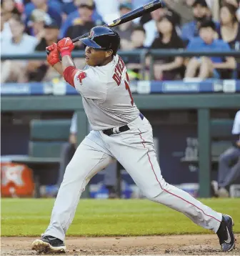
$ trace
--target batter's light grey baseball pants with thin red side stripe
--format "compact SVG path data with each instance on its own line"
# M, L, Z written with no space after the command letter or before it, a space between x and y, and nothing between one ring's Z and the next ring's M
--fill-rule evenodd
M149 200L184 213L197 225L217 232L222 215L187 192L165 182L157 162L152 128L144 117L128 124L129 130L108 136L91 131L66 167L45 235L64 240L74 219L81 192L97 172L117 159Z

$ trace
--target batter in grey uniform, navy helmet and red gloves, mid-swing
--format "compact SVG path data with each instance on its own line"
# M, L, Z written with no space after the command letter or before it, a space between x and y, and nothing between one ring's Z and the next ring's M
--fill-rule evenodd
M91 177L114 159L129 172L149 200L182 212L197 225L216 232L221 249L233 250L232 218L203 205L161 176L151 124L134 104L126 66L117 54L119 34L106 26L96 26L81 42L86 46L83 70L77 69L71 58L74 44L70 38L49 46L47 60L81 94L93 130L66 167L49 227L41 239L32 243L32 250L66 251L65 234L74 219L81 192Z

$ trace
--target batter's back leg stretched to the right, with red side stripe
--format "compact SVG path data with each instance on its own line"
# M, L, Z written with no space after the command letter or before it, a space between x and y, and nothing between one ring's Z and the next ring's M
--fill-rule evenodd
M151 125L146 119L143 122L135 122L133 129L127 132L122 132L115 137L106 137L106 142L110 144L114 157L129 172L149 200L182 212L197 225L214 232L218 232L220 225L226 227L226 222L229 222L229 228L231 228L232 220L228 217L222 224L221 213L202 204L187 192L165 182L156 159ZM227 235L226 232L223 233ZM234 243L231 243L229 249L232 249L232 246Z

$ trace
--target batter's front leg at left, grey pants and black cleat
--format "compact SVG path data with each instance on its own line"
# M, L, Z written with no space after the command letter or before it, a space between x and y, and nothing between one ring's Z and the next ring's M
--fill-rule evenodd
M38 252L64 252L64 237L74 219L81 193L91 177L104 169L114 158L110 156L99 132L91 132L76 149L66 167L63 182L54 203L49 227L41 240L35 240L32 249Z

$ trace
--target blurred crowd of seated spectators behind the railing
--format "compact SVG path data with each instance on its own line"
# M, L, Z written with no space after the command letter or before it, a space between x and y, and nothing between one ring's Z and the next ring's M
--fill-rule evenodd
M149 0L1 0L1 54L31 54L64 36L74 38L110 23ZM166 7L116 26L121 50L240 50L240 0L165 0ZM79 42L76 50L84 50ZM78 66L83 59L75 59ZM125 57L132 79L142 79L139 56ZM146 74L150 67L146 58ZM51 81L44 60L1 61L1 82ZM147 77L147 76L146 76ZM234 57L154 56L156 80L240 78Z

